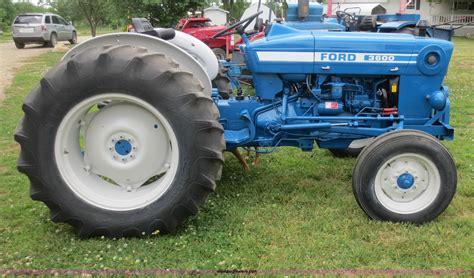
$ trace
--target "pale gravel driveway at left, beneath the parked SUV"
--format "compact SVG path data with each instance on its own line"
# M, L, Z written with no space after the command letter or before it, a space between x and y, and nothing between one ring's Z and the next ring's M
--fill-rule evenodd
M83 42L88 38L79 37L78 41ZM63 42L58 45L60 47ZM17 49L13 42L0 43L0 101L5 98L5 89L10 85L16 70L29 63L32 58L51 50L52 48L36 44L27 45L25 49Z

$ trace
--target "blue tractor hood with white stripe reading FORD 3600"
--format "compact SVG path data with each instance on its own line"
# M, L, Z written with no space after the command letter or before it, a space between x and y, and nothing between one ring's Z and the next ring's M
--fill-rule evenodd
M273 24L264 39L243 50L255 73L444 75L453 45L407 34L302 31Z

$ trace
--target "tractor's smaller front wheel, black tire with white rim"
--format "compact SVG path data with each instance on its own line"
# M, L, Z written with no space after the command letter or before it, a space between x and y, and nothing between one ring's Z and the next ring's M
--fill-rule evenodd
M370 218L424 223L451 202L457 174L448 150L429 134L403 130L377 137L359 155L352 187Z

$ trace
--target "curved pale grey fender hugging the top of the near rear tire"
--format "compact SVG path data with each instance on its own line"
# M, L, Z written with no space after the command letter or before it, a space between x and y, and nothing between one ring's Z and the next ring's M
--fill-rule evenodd
M174 60L176 60L176 62L178 62L179 67L182 70L193 73L194 76L196 76L197 79L201 81L204 87L204 91L207 93L207 95L211 95L211 79L204 66L200 64L198 60L193 58L193 56L186 53L185 50L179 48L178 46L165 40L148 35L141 35L137 33L113 33L100 37L95 37L83 43L80 43L73 49L69 50L63 56L62 60L69 60L74 55L89 48L101 47L108 44L113 46L131 45L137 47L145 47L149 51L161 53L166 55L167 57L172 57ZM214 59L216 60L217 64L217 59L215 58L215 56Z

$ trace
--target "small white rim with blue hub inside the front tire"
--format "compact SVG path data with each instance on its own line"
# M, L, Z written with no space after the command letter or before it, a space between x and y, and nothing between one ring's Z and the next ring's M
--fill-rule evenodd
M441 188L436 165L415 153L388 159L377 170L375 195L388 210L399 214L422 211L434 202Z

